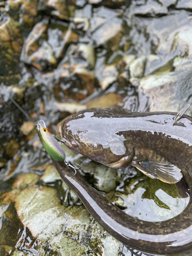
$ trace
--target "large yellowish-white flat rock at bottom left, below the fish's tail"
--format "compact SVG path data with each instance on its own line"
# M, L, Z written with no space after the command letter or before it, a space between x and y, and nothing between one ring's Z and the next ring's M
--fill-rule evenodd
M67 207L62 205L56 189L36 185L36 176L38 175L21 175L15 181L14 189L4 195L4 204L6 204L6 200L15 202L16 216L19 217L19 224L23 225L21 229L24 229L23 233L22 230L19 233L17 248L24 250L27 246L28 250L33 249L41 255L45 251L46 244L50 247L49 252L52 254L66 255L67 251L70 255L80 256L84 251L92 248L92 243L94 243L93 248L100 246L103 229L95 221L91 221L84 206ZM8 221L12 216L7 211L6 214ZM15 221L17 218L13 217L12 219ZM17 224L16 234L18 227ZM10 227L4 223L4 231L8 232L6 228L10 230ZM12 231L12 239L15 239L14 232ZM29 240L26 240L26 236ZM35 248L34 242L36 243ZM87 248L88 244L90 244L89 249ZM75 254L74 248L77 248ZM9 248L9 251L10 249L12 247ZM18 255L17 250L14 253Z

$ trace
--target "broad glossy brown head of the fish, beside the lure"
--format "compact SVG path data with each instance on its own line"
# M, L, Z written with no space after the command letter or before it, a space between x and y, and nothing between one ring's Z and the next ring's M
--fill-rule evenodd
M112 133L108 114L109 110L89 109L68 116L57 125L57 137L94 161L115 162L124 155L125 148L123 139Z

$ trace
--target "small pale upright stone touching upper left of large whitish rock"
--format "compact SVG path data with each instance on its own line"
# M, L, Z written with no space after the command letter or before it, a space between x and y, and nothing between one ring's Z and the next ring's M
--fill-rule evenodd
M141 56L133 60L130 64L131 77L141 78L145 70L146 56Z

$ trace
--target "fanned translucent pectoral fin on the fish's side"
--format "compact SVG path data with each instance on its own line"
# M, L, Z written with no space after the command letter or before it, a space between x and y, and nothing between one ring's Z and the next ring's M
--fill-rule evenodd
M172 163L135 162L132 165L152 179L159 179L166 183L177 183L183 177L181 169Z

